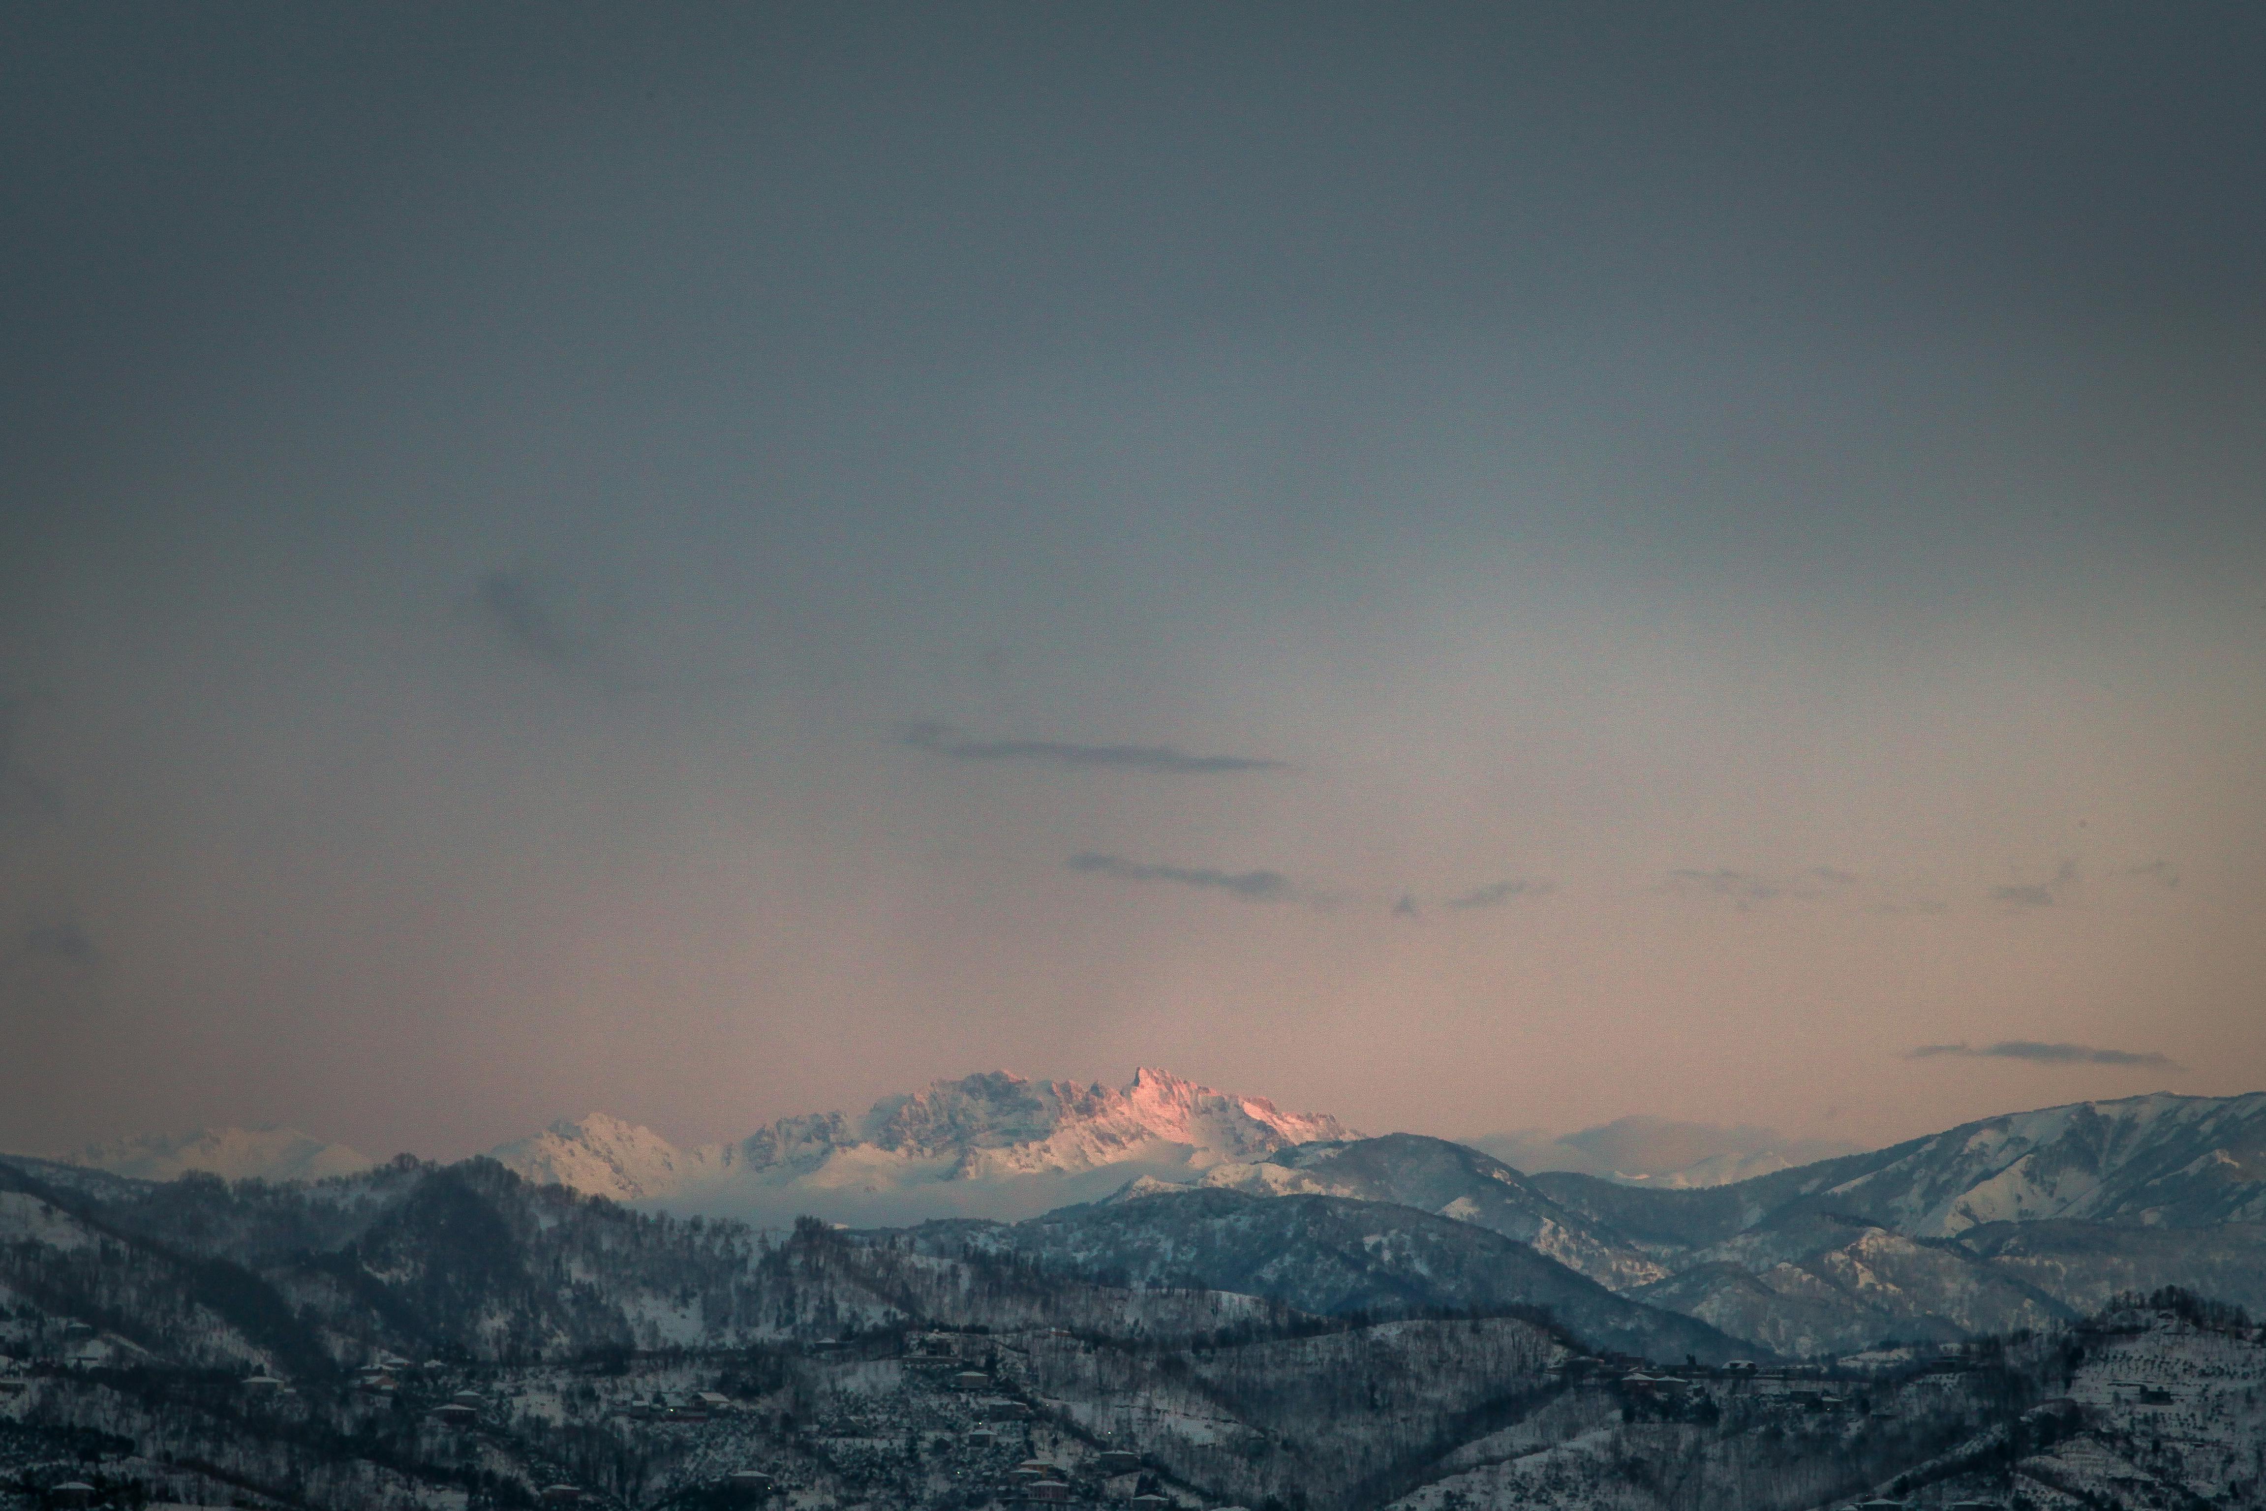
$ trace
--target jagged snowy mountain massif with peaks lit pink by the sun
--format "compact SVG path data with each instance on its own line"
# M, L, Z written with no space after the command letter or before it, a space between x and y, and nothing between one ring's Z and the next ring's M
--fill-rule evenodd
M736 1144L675 1149L591 1115L494 1158L542 1183L671 1212L836 1221L1029 1217L1133 1176L1187 1183L1228 1162L1344 1139L1335 1117L1283 1112L1142 1067L1124 1087L988 1072L886 1096L863 1117L784 1117Z

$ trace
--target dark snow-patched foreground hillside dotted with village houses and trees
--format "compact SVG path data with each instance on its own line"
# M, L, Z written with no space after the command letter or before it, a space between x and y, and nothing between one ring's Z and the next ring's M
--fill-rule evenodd
M378 1352L324 1384L168 1368L16 1307L0 1506L2266 1504L2259 1330L2157 1300L2064 1334L1811 1366L1659 1364L1514 1318L1403 1318L1160 1346L904 1325L571 1361Z

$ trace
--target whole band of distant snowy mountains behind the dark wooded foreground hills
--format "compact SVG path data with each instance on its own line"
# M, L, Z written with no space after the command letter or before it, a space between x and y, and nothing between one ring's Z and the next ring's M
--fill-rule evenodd
M150 1180L199 1160L301 1180L369 1164L258 1130L138 1139L43 1169ZM1527 1173L1156 1069L1124 1087L938 1081L857 1119L780 1119L691 1151L587 1117L494 1162L680 1217L915 1226L925 1246L1303 1309L1523 1300L1636 1339L1625 1309L1641 1307L1650 1328L1675 1314L1779 1355L2042 1328L2159 1284L2266 1305L2266 1094L2017 1112L1713 1187Z

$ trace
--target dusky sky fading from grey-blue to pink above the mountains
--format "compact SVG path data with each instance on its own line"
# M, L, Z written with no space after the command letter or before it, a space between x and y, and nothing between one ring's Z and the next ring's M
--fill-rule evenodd
M0 1149L2266 1087L2266 11L7 7Z

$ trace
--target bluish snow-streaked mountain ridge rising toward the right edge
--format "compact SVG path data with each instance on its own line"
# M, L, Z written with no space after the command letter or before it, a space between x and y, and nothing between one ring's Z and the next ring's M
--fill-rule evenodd
M1786 1352L2035 1328L2130 1287L2259 1294L2266 1094L2012 1112L1711 1189L1532 1185L1675 1271L1643 1300Z

